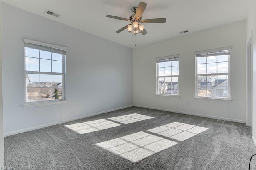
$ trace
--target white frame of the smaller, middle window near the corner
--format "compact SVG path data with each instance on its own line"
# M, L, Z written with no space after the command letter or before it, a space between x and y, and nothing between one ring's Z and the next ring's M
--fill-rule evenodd
M157 96L170 96L170 97L180 97L180 84L179 84L179 74L180 74L180 61L179 61L179 57L180 55L176 54L176 55L170 55L170 56L165 56L165 57L158 57L156 58L156 95ZM170 59L174 59L174 58L178 58L179 61L179 69L178 75L173 75L173 76L158 76L159 75L159 69L158 69L158 62L157 61L169 61ZM170 60L171 61L171 60ZM159 94L159 77L178 77L178 94Z

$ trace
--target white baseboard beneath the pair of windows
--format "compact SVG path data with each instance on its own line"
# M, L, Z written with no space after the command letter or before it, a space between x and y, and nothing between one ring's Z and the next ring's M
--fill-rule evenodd
M238 122L238 123L245 123L245 121L243 121L243 120L229 119L229 118L224 118L224 117L201 115L201 114L183 112L183 111L177 111L177 110L161 109L161 108L157 108L157 107L148 107L148 106L140 106L140 105L133 105L133 106L147 108L147 109L161 110L161 111L170 111L170 112L181 113L181 114L185 114L185 115L193 115L193 116L207 117L207 118L212 118L212 119L220 119L220 120L225 120L225 121L234 121L234 122Z

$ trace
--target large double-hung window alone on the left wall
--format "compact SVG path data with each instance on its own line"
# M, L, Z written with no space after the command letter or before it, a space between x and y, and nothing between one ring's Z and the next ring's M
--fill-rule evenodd
M65 99L66 47L24 39L25 103Z

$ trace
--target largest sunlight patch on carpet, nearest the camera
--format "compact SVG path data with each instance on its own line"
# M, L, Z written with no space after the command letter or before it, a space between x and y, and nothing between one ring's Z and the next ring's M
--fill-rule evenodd
M98 147L117 154L131 162L138 162L148 156L168 149L177 143L146 132L133 133L109 141L97 143Z

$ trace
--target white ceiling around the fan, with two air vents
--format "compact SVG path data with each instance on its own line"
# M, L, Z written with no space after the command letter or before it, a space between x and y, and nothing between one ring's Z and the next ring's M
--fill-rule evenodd
M7 4L38 14L93 35L134 48L135 37L127 30L115 33L130 22L107 18L128 18L140 0L2 0ZM145 23L148 34L136 35L137 47L180 35L245 20L250 0L143 0L148 5L143 19L166 18L166 23ZM45 11L60 14L55 18Z

